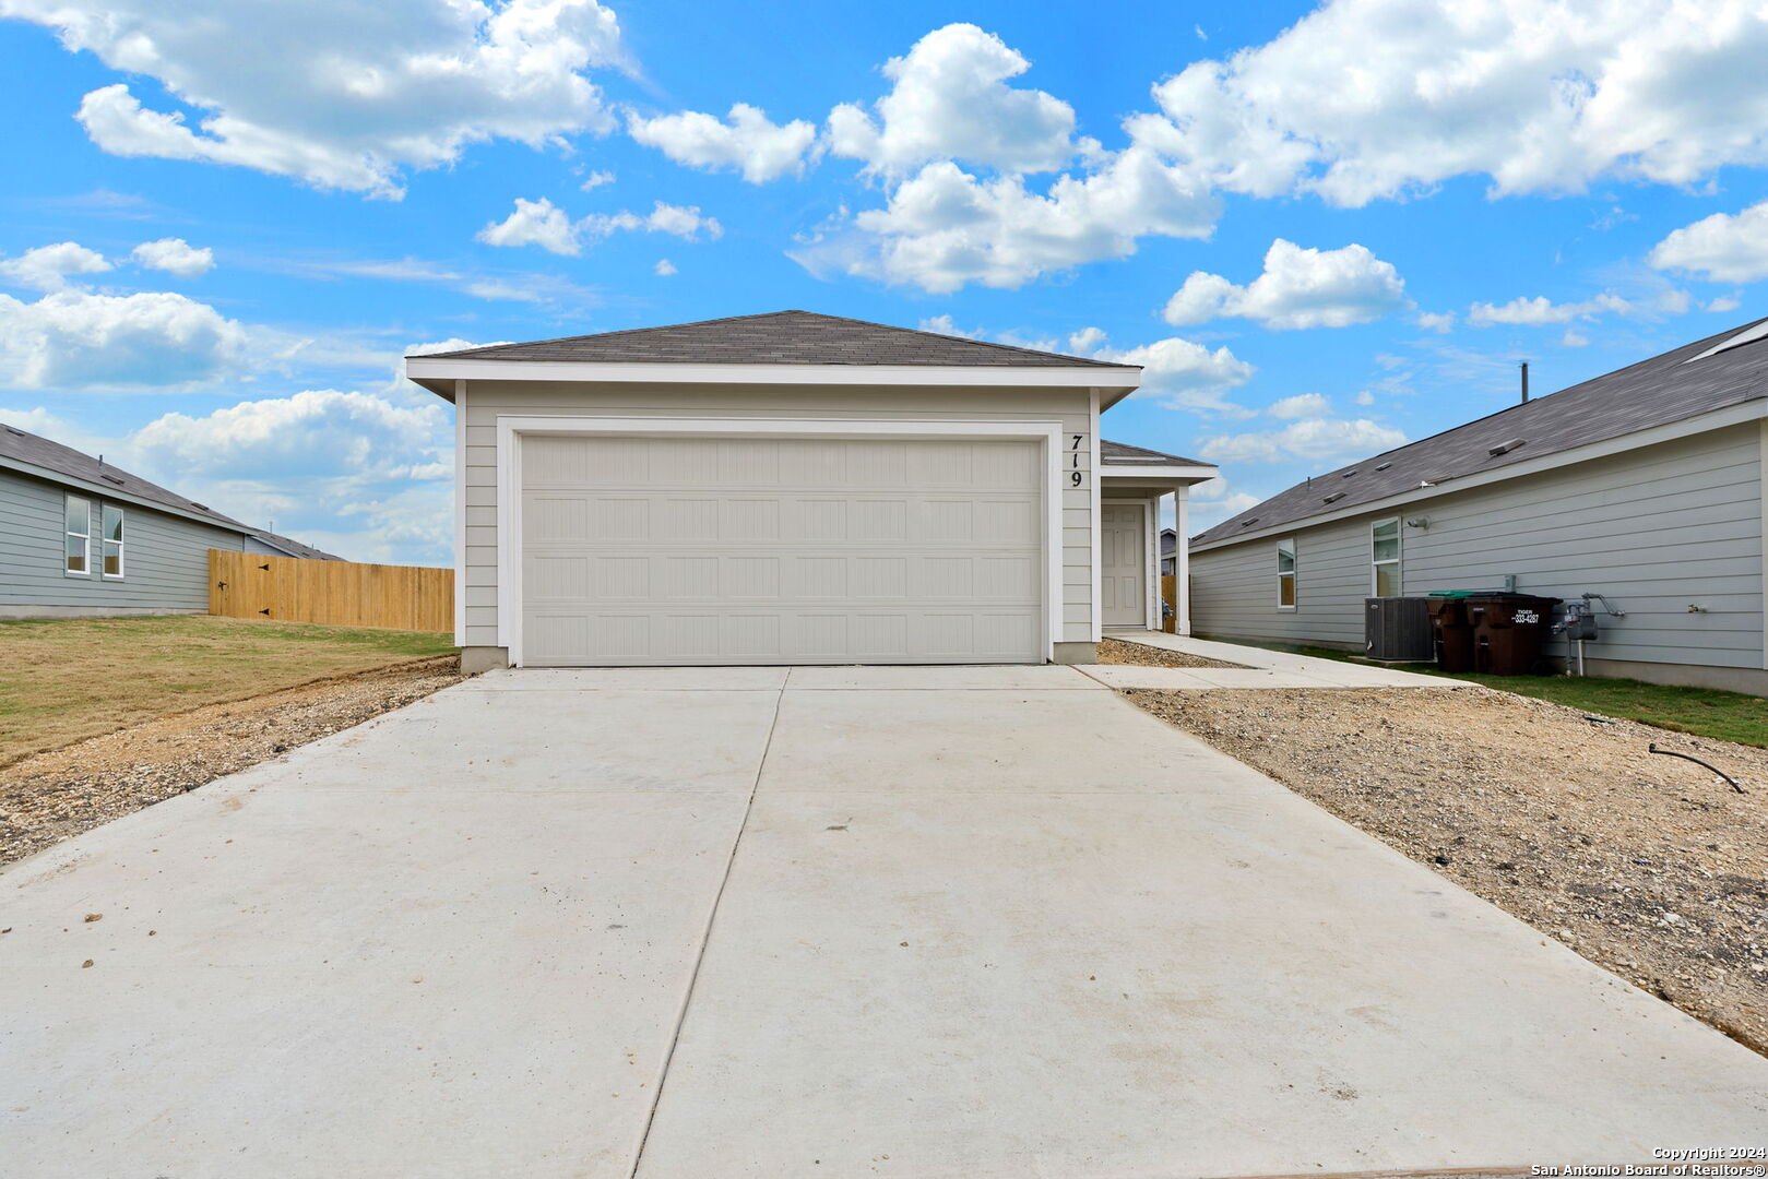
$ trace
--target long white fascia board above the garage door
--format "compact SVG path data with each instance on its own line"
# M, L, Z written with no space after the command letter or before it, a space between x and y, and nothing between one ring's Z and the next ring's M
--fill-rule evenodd
M562 380L668 385L983 385L999 389L1114 389L1142 384L1139 368L983 368L971 364L601 364L585 361L472 361L408 357L405 377L431 380ZM428 387L428 385L426 385Z

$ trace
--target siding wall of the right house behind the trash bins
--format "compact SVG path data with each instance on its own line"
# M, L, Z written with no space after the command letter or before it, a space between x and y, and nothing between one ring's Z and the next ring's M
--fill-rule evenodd
M1298 527L1299 605L1276 610L1276 537L1192 553L1193 628L1223 638L1360 647L1376 520L1402 529L1404 594L1492 589L1607 594L1591 658L1761 668L1763 428L1664 442L1538 475ZM1706 610L1690 613L1688 606Z

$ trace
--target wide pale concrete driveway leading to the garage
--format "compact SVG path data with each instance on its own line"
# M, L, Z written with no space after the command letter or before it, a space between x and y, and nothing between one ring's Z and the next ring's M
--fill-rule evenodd
M32 1177L1768 1140L1768 1061L1057 666L486 675L27 861L0 928Z

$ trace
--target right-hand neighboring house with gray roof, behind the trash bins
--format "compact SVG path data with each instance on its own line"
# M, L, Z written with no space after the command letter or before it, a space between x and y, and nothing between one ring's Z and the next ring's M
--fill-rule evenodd
M1299 483L1192 537L1195 629L1361 647L1363 599L1595 603L1588 670L1768 693L1768 320ZM1556 642L1551 654L1568 654Z

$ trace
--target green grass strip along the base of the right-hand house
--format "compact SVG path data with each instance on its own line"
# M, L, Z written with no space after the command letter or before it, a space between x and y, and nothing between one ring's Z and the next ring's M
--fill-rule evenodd
M1202 638L1202 636L1199 636ZM1294 643L1261 643L1245 638L1223 638L1223 643L1291 650L1321 659L1351 661L1353 652L1330 647L1299 647ZM1448 675L1430 665L1400 665L1421 675L1460 679L1519 696L1551 700L1581 712L1618 716L1628 721L1657 725L1680 734L1736 741L1747 746L1768 748L1768 700L1713 688L1665 688L1637 679L1597 679L1579 675L1475 675L1460 672Z

